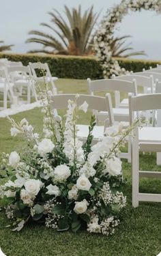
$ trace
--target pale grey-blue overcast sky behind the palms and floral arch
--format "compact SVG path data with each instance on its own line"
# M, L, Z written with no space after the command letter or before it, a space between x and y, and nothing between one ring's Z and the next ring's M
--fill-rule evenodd
M68 8L82 6L82 10L94 7L94 12L99 12L100 20L108 8L119 4L121 0L0 0L0 40L5 44L14 44L12 52L26 53L35 48L41 48L39 44L25 44L29 38L28 32L32 29L44 30L40 23L50 24L48 14L53 8L57 9L63 15L64 5ZM161 14L156 12L141 11L131 12L123 18L119 24L119 31L115 35L132 35L128 42L132 42L135 51L144 50L147 53L145 59L161 59ZM141 57L143 58L143 57Z

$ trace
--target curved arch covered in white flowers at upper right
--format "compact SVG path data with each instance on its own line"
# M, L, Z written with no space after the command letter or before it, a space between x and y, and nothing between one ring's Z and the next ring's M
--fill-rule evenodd
M104 16L100 29L98 29L98 33L94 38L94 48L96 56L100 60L104 78L108 78L112 74L118 75L125 72L112 57L111 40L117 23L120 23L129 11L136 12L142 9L153 10L160 14L161 0L122 0L119 5L115 5L106 12L106 16Z

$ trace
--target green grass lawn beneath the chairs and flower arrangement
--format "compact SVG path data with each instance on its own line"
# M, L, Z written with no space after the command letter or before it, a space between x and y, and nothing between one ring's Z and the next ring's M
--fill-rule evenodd
M87 82L83 80L59 79L57 88L62 93L87 94ZM62 114L62 113L61 113ZM81 123L88 123L90 115L83 115ZM42 130L42 113L33 109L14 115L17 121L26 118L35 130ZM22 147L20 138L10 136L10 124L0 118L0 152L10 152ZM27 225L20 233L5 226L10 223L0 212L0 246L7 256L156 256L161 251L161 203L140 203L131 206L131 169L123 160L123 175L127 179L122 190L128 205L121 214L121 225L113 236L100 236L80 231L58 233L41 225ZM156 155L141 155L141 169L155 169ZM161 193L160 180L142 179L142 192ZM147 190L148 188L148 190Z

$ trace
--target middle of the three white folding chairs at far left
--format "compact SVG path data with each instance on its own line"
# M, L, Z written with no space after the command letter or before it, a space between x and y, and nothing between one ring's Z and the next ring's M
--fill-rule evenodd
M31 102L31 92L35 100L38 100L29 66L10 66L8 74L21 96L24 87L27 89L27 103Z

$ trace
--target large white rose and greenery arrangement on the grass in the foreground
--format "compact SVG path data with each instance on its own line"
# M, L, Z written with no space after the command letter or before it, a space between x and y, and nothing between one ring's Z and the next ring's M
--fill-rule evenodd
M119 214L126 206L120 191L123 182L118 146L136 126L111 134L92 145L96 119L91 117L89 135L83 143L76 133L77 106L68 101L65 128L61 117L53 115L50 91L42 93L43 137L34 132L26 119L12 124L11 135L23 136L25 149L3 153L0 177L0 205L20 231L29 221L44 223L57 231L87 229L91 233L113 234ZM76 97L77 99L77 97ZM111 134L111 135L110 135Z

